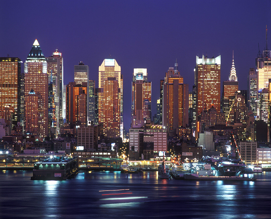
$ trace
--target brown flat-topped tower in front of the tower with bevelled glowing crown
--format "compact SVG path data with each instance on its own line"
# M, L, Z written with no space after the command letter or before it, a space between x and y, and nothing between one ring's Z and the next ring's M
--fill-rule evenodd
M103 81L103 98L99 119L104 124L104 135L106 137L120 137L120 88L115 77L108 77ZM101 112L101 114L100 114ZM101 116L100 116L101 115Z

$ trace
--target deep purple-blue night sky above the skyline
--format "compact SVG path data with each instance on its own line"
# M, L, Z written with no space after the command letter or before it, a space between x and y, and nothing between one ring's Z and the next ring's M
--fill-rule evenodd
M64 60L64 84L74 65L89 65L98 86L98 68L111 54L124 81L124 126L131 113L134 68L147 68L152 82L152 114L160 79L177 58L180 74L194 84L196 55L221 55L221 84L230 74L232 51L239 89L247 89L249 68L265 47L271 49L270 1L1 1L0 56L23 62L38 40L44 55L56 48ZM22 68L23 69L23 68Z

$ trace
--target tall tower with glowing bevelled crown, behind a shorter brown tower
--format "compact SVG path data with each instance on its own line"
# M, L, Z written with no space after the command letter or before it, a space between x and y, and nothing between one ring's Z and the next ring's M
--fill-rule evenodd
M106 100L105 98L105 89L104 89L104 83L107 81L107 85L115 87L115 82L112 82L112 84L108 84L108 78L115 78L114 81L117 81L118 89L120 92L118 92L117 99L114 101L119 100L119 108L120 108L120 115L118 115L119 118L109 118L110 115L117 115L117 109L115 109L114 113L109 113L108 115L104 115L104 112L109 112L109 109L104 109L103 107L108 107L109 105L104 101ZM111 82L110 82L111 83ZM121 74L121 66L118 65L117 61L115 59L104 59L102 64L99 66L99 93L98 93L98 122L99 123L104 123L104 129L108 129L105 125L109 124L109 120L114 120L114 122L117 122L117 120L120 120L120 124L118 125L119 131L115 130L114 134L119 133L121 137L123 137L123 129L120 130L121 127L123 127L123 79L122 79L122 74ZM116 87L115 87L116 88ZM115 90L113 91L115 95ZM110 97L111 98L111 97ZM115 107L115 106L114 106ZM108 118L108 121L105 121L104 119ZM115 120L117 119L117 120ZM115 126L115 125L114 125ZM109 128L108 130L111 130ZM113 133L112 133L113 134Z

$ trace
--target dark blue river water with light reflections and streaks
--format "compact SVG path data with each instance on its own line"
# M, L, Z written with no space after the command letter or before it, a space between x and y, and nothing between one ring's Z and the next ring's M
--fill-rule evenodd
M79 172L32 181L0 172L0 218L271 218L271 173L256 182L157 179L157 172ZM122 191L105 191L129 189ZM107 195L127 193L120 195ZM103 199L103 200L102 200Z

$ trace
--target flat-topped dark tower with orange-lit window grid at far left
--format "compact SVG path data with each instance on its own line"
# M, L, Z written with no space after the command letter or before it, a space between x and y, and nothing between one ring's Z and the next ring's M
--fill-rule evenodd
M12 112L12 125L21 119L21 59L17 57L0 58L0 111L9 107Z

